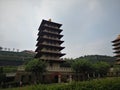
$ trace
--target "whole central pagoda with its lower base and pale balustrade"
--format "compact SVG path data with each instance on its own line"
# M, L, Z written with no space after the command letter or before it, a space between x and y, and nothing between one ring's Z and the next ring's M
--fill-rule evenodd
M71 80L71 68L61 67L60 64L65 61L61 59L64 53L61 50L61 44L64 42L61 40L62 24L52 22L50 20L42 20L39 27L38 39L37 39L37 52L35 58L44 60L48 63L47 73L44 75L46 81L61 82L65 80Z

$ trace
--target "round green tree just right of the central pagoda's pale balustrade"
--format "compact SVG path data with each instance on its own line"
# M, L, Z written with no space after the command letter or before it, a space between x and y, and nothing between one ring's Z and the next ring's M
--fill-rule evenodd
M75 71L77 80L80 79L80 74L82 74L82 80L89 78L89 74L93 70L92 64L85 59L77 59L72 63L72 69ZM87 75L87 77L85 77Z

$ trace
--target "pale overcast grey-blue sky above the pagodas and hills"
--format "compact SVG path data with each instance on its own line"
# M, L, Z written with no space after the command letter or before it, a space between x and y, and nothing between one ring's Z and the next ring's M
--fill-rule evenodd
M113 56L120 0L0 0L0 46L35 50L42 19L63 26L65 57Z

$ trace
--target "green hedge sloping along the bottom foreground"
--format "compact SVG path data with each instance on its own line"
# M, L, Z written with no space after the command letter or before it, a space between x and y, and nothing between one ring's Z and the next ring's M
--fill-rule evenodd
M4 90L120 90L120 77L73 82L71 84L33 85Z

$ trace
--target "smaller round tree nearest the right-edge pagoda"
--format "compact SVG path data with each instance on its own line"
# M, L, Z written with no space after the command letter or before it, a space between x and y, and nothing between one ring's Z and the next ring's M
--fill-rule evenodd
M94 70L99 77L105 76L109 68L110 68L110 64L108 64L107 62L100 61L94 64Z

